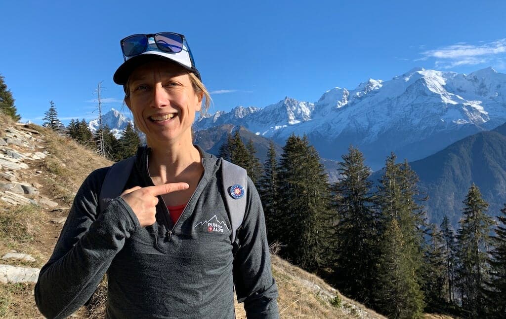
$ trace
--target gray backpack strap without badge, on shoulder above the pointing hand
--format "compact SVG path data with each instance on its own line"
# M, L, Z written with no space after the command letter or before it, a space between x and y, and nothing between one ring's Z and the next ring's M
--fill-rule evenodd
M99 212L102 212L109 204L109 201L118 197L130 177L132 168L135 164L136 156L125 158L118 163L111 166L105 175L104 182L102 183L102 190L100 191L99 199Z

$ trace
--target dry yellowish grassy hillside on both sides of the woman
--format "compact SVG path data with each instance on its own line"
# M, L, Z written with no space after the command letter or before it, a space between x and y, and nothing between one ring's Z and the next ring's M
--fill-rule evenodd
M0 116L0 136L15 124ZM41 161L28 161L28 169L19 172L19 180L37 185L40 195L56 201L57 207L43 205L12 206L0 201L0 256L12 250L30 254L35 261L0 263L40 268L49 259L62 224L55 219L66 217L80 183L93 170L111 162L83 148L67 137L30 125L39 132L36 148L48 156ZM2 169L3 170L3 169ZM0 170L0 171L2 171ZM1 173L1 172L0 172ZM2 177L0 177L2 179ZM53 222L51 221L53 220ZM282 318L381 318L372 310L349 300L314 275L290 265L273 255L272 267L279 287L279 309ZM0 284L0 317L41 318L33 299L33 284ZM101 318L105 304L102 284L88 307L74 314L77 318ZM241 305L236 305L238 318L244 318Z

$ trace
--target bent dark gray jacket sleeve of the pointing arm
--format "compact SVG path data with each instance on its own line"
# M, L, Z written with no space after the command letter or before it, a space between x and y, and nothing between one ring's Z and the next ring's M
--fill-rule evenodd
M35 302L48 318L65 318L85 304L104 277L125 238L140 228L121 197L98 214L107 169L88 176L77 192L49 261L40 270Z

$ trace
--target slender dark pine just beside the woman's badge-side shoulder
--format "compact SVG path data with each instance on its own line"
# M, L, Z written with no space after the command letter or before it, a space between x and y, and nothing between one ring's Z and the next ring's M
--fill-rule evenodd
M278 162L274 142L269 144L267 159L264 163L264 174L260 179L260 197L264 206L267 238L269 243L279 240L278 225L281 222L279 216L279 179Z

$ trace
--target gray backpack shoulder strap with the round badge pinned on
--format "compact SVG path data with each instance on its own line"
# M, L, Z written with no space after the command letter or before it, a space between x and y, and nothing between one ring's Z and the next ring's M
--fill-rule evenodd
M222 160L223 187L225 188L225 201L228 206L228 215L230 216L230 224L232 226L232 243L236 243L237 231L242 225L244 214L246 212L246 193L247 193L247 174L242 167ZM231 192L237 185L242 187L242 196L232 197Z

